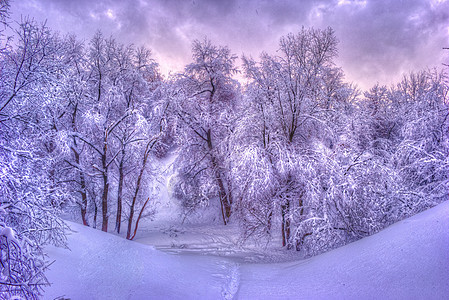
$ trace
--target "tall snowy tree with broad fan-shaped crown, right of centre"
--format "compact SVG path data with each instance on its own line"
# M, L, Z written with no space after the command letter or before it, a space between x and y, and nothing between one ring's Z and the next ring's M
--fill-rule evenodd
M247 92L251 104L249 117L239 124L246 132L240 140L250 136L251 148L260 147L256 153L263 153L271 164L268 174L276 180L270 180L271 191L264 197L274 201L270 207L280 210L268 215L280 219L283 245L288 248L296 239L292 226L312 209L306 193L310 179L305 174L317 160L315 144L333 147L338 139L337 128L329 124L335 120L331 118L334 107L338 101L348 102L353 94L334 66L336 46L332 29L303 28L281 38L279 56L263 53L260 62L244 57L246 76L252 81Z

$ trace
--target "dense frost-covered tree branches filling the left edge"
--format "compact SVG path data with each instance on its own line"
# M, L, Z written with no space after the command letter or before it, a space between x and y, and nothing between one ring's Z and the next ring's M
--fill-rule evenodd
M58 180L65 148L55 127L66 43L27 19L14 30L14 46L0 52L0 292L37 299L48 285L42 247L65 246L58 213L71 199Z

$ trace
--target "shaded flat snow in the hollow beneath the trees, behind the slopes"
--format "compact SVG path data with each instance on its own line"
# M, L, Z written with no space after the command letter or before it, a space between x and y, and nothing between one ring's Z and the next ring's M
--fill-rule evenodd
M171 153L154 162L162 170L157 200L151 202L155 214L151 220L140 222L135 241L172 254L225 256L238 262L285 262L302 258L302 253L279 247L280 234L269 243L257 244L254 240L243 243L239 224L223 225L218 200L185 217L181 203L171 195L176 157L177 153Z

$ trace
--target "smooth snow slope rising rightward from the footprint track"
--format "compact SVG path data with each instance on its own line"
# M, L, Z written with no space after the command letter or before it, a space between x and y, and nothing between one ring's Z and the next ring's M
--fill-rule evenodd
M241 299L448 299L449 202L328 253L241 273Z

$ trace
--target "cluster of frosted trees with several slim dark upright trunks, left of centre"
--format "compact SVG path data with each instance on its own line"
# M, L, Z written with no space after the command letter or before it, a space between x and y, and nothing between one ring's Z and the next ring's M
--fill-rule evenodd
M74 99L70 115L76 118L72 131L69 130L73 136L71 148L75 151L67 163L79 172L85 224L86 200L90 195L94 220L101 205L102 230L107 231L110 199L114 198L111 192L117 183L115 229L119 232L124 198L132 197L126 183L132 185L130 181L137 180L133 171L140 159L136 153L141 153L144 140L151 138L150 128L154 127L151 122L159 122L157 118L148 118L153 117L151 99L160 75L149 50L121 45L113 38L104 38L100 32L81 59L82 64L75 69L80 72L76 75L79 80L67 90ZM80 159L81 153L84 161ZM91 181L90 187L85 184L86 177ZM96 196L100 196L100 201Z

